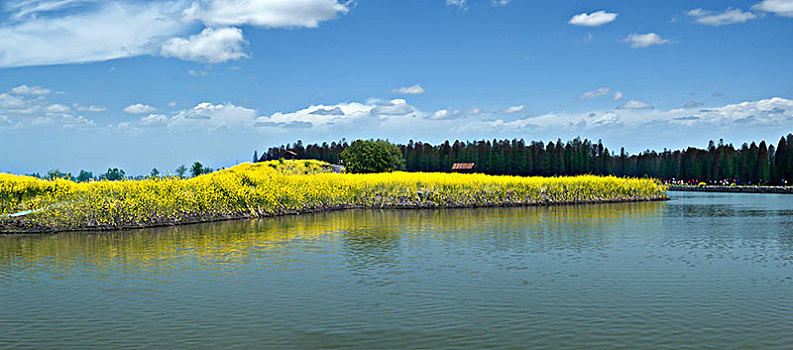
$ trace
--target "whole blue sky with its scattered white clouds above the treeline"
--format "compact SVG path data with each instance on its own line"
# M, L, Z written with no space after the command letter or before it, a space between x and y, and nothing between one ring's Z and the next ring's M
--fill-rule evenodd
M298 139L793 132L793 0L12 0L0 172L213 167Z

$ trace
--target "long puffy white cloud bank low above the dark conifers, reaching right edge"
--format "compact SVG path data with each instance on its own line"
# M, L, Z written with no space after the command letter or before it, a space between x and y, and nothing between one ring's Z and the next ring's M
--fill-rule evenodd
M639 128L657 123L689 126L717 125L729 128L732 125L785 126L793 122L793 100L780 97L711 107L696 111L694 114L691 109L657 110L653 109L650 104L641 101L628 101L620 107L615 110L591 113L549 113L519 119L494 118L493 114L478 108L453 111L440 109L426 113L416 109L403 99L313 105L295 112L278 112L271 116L258 118L255 117L255 111L233 105L201 104L194 110L208 110L212 114L217 113L218 109L230 109L231 115L238 116L234 119L237 120L236 123L225 123L230 127L256 126L260 130L300 128L306 129L306 132L311 132L311 130L323 132L322 130L328 130L328 127L332 126L335 130L348 132L359 132L363 129L369 133L379 130L380 133L391 134L399 131L404 133L401 134L402 137L414 137L417 130L432 134L439 129L451 130L453 133L459 132L459 135L483 137L486 135L483 133L490 131L495 131L494 134L498 135L502 132L515 132L516 130ZM200 113L194 110L183 111L180 114L186 117L187 114ZM233 113L231 113L232 111ZM215 118L215 115L213 114L211 117ZM177 118L171 118L169 123L173 125L175 119ZM204 117L194 117L193 119L195 125L211 121L211 118Z

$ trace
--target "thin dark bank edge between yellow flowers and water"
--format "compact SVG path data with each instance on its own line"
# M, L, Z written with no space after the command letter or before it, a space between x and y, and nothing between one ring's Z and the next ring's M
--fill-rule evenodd
M153 222L144 225L128 225L128 226L92 226L81 228L28 228L20 230L9 230L8 226L0 224L0 235L50 235L64 232L111 232L111 231L132 231L156 227L169 227L169 226L183 226L193 224L204 224L211 222L222 222L232 220L251 220L251 219L264 219L274 218L280 216L291 215L304 215L304 214L317 214L341 210L361 210L361 209L389 209L389 210L427 210L427 209L465 209L465 208L510 208L510 207L544 207L544 206L563 206L563 205L586 205L586 204L615 204L615 203L636 203L636 202L659 202L668 201L668 196L655 196L655 197L641 197L641 198L628 198L628 199L603 199L603 200L585 200L585 201L568 201L568 202L533 202L533 203L493 203L485 205L434 205L434 204L415 204L415 205L384 205L384 206L364 206L364 205L344 205L327 207L320 209L307 209L299 211L287 211L280 213L268 213L262 215L251 214L229 214L219 217L203 218L192 217L183 221L171 222Z

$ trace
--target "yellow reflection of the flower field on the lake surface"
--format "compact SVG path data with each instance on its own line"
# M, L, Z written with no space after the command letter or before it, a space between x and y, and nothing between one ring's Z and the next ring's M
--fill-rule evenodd
M97 268L168 269L166 262L224 268L266 254L285 254L292 240L339 240L354 259L379 259L398 249L403 234L432 232L459 239L493 230L488 249L511 249L533 239L536 249L591 246L600 228L632 217L659 215L658 202L594 206L453 210L352 210L249 221L225 221L118 232L75 232L0 239L0 264L64 270L90 263ZM532 235L523 229L531 225ZM585 229L585 230L584 230ZM587 236L583 236L587 235ZM549 241L550 240L550 241ZM374 260L373 260L374 261Z

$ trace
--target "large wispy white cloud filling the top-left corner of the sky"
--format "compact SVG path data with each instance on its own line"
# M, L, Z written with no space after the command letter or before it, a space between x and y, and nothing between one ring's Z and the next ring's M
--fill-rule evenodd
M13 20L0 25L0 67L104 61L156 53L157 41L184 31L174 3L103 1L84 12L42 12L17 2Z

